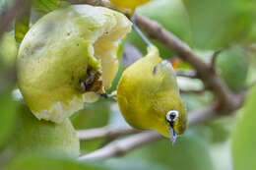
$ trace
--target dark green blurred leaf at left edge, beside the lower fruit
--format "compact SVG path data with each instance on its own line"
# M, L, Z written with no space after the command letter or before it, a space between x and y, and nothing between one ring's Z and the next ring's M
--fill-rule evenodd
M0 147L9 139L16 120L17 103L13 101L11 90L0 93Z

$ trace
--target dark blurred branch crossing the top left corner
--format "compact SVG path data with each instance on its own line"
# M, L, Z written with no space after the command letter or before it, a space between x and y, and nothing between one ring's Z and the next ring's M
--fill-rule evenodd
M5 31L8 31L8 28L15 20L15 18L23 14L24 11L27 11L30 7L31 0L16 0L14 5L4 11L0 16L0 37Z

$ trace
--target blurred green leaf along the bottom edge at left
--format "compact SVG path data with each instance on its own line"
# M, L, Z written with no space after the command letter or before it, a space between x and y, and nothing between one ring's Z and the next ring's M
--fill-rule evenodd
M54 153L28 152L14 158L4 170L106 170L100 166L79 163Z

